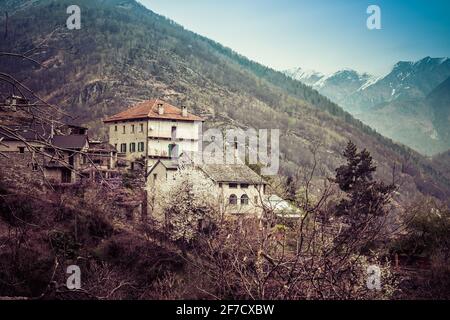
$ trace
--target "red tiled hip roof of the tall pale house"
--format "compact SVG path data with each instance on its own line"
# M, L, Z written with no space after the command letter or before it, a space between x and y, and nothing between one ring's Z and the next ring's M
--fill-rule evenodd
M163 104L164 114L158 113L158 104ZM187 117L183 117L181 109L172 106L171 104L159 99L152 99L144 102L140 102L133 107L115 114L103 122L115 122L123 120L133 119L168 119L168 120L181 120L181 121L204 121L202 118L187 114Z

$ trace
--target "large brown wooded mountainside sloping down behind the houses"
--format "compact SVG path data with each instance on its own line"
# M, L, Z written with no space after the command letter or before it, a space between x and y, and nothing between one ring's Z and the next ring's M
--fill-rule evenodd
M420 193L450 199L450 180L428 159L376 133L309 86L133 0L79 0L81 29L67 30L71 4L0 0L9 12L0 51L24 52L51 39L33 56L45 67L3 57L0 70L75 115L91 134L105 137L103 118L157 97L187 105L208 127L280 129L280 174L308 170L314 163L309 150L320 145L315 179L332 176L351 139L370 150L381 179L390 181L393 166L402 167L396 170L402 179L399 201ZM0 25L5 22L2 15ZM10 90L0 86L3 95Z

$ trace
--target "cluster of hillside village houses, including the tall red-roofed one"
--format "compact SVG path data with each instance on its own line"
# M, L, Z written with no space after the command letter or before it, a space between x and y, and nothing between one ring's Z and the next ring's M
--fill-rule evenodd
M2 118L17 118L27 105L25 98L11 95L1 108ZM26 171L52 186L70 187L83 181L114 186L132 173L135 185L139 180L145 192L134 209L155 219L163 219L155 203L158 194L170 189L186 171L201 177L198 184L210 185L221 214L261 217L271 210L288 218L300 216L288 201L268 192L267 181L241 159L237 142L226 146L233 149L233 163L198 161L210 156L200 150L203 122L187 107L160 99L140 102L103 119L108 141L94 139L88 128L70 123L49 125L33 119L8 125L6 121L0 130L0 153L14 166L10 170Z

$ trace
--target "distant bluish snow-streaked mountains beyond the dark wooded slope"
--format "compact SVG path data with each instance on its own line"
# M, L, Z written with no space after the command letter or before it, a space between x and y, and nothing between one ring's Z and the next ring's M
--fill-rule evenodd
M344 70L308 84L383 135L433 155L450 148L449 76L450 59L426 57L378 78Z

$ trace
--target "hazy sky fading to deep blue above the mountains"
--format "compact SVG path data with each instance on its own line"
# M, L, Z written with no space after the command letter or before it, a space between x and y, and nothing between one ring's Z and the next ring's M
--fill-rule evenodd
M450 56L450 0L140 0L189 30L278 70L387 72ZM369 30L369 5L381 30Z

